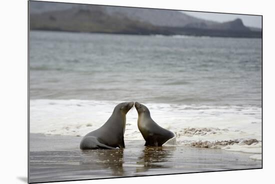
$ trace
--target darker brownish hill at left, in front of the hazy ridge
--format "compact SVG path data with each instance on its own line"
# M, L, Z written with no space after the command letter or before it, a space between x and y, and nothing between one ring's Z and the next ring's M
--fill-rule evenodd
M149 34L157 27L122 15L108 15L97 7L70 8L30 15L30 28L76 32ZM158 33L158 32L156 32Z

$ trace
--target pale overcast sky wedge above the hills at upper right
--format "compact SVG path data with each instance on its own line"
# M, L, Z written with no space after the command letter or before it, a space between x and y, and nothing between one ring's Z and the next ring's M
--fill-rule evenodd
M208 12L195 12L195 11L182 11L188 15L203 18L206 20L214 20L224 22L240 18L244 25L261 28L261 16L255 15L241 15L241 14L226 14L226 13L208 13Z

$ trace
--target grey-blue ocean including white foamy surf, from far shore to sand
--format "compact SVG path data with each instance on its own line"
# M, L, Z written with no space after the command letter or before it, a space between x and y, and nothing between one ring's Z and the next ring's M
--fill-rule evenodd
M261 39L54 31L29 38L31 133L85 135L117 103L138 101L178 145L237 140L261 149ZM136 110L126 117L125 139L142 140ZM258 142L243 143L249 139Z

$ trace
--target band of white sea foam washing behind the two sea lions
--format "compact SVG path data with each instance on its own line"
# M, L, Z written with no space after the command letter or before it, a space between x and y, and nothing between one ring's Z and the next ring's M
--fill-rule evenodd
M83 136L99 128L111 115L119 101L97 100L30 100L30 132L52 135ZM177 145L224 147L260 153L261 107L208 106L167 103L144 103L151 117L163 128L176 135ZM126 115L124 139L143 140L137 128L137 112L130 109ZM244 140L256 139L254 147ZM240 147L237 147L240 146ZM245 145L247 145L245 147ZM244 146L244 147L241 147Z

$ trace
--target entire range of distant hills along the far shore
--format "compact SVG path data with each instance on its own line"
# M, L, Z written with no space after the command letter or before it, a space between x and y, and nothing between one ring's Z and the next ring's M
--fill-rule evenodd
M124 34L260 37L241 19L223 23L177 10L30 1L30 29ZM205 31L206 30L206 31Z

